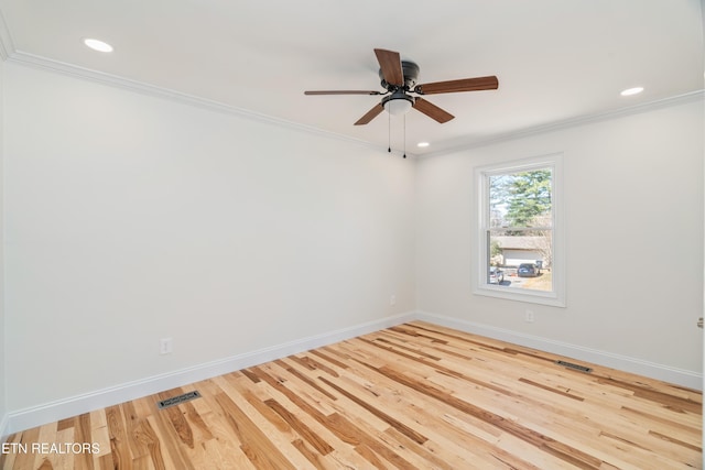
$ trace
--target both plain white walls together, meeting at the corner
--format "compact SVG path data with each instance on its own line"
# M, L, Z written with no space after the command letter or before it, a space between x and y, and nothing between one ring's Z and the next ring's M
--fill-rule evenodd
M2 67L0 417L414 309L702 371L702 101L414 164ZM554 152L567 308L474 296L473 168Z

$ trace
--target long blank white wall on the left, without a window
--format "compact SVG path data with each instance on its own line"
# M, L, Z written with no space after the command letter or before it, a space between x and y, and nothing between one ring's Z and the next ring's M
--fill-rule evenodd
M413 310L412 161L4 76L9 409Z

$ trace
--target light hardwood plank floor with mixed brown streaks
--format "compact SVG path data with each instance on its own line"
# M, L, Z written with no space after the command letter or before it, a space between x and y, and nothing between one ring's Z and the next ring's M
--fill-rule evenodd
M702 468L699 392L557 359L416 321L18 433L0 467Z

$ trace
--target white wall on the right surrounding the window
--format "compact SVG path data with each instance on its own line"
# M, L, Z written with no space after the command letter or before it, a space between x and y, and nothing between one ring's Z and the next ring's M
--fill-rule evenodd
M420 161L417 307L699 374L703 101ZM471 294L473 170L564 152L567 308ZM651 256L644 258L643 253ZM524 323L524 311L535 323Z

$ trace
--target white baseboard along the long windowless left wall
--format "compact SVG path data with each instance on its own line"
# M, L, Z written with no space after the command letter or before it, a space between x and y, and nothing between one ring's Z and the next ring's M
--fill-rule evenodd
M285 342L283 345L276 345L270 348L263 348L192 368L120 384L118 386L97 390L40 406L11 412L6 416L3 422L0 423L2 424L0 435L4 438L12 433L18 433L23 429L80 415L94 409L105 408L177 386L188 385L194 382L332 345L356 336L367 335L405 321L411 321L414 318L415 313L413 311L389 316L348 328Z

